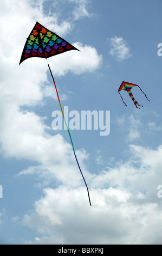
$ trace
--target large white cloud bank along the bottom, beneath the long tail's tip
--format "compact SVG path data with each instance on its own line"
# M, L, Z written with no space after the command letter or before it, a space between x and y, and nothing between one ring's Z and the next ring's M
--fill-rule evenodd
M38 231L27 243L161 244L161 149L131 145L129 161L91 178L84 187L46 188L23 223ZM57 207L56 207L57 205ZM64 214L66 212L66 214Z

